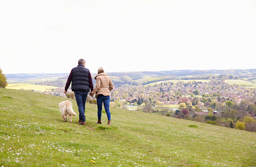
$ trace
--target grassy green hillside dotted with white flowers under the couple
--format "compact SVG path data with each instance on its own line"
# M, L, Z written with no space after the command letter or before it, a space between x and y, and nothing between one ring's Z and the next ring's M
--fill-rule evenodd
M0 89L0 167L256 166L256 133L119 108L98 125L92 104L84 127L62 120L63 100Z

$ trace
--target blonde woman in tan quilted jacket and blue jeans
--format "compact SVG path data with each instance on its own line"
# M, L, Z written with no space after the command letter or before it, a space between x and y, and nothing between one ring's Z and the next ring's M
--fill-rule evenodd
M97 106L98 106L98 122L97 124L101 124L101 111L102 111L102 103L104 104L105 111L108 117L108 125L111 124L111 114L109 111L109 102L110 102L110 91L114 88L114 85L104 72L104 69L100 67L98 69L98 75L94 77L96 79L96 87L91 91L90 95L93 96L95 93L95 97L97 98Z

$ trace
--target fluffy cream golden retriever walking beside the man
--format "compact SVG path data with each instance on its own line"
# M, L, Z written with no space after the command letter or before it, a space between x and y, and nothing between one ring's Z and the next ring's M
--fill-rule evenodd
M59 103L59 110L65 122L67 122L67 115L69 116L69 122L72 122L72 116L76 116L72 108L72 103L69 100Z

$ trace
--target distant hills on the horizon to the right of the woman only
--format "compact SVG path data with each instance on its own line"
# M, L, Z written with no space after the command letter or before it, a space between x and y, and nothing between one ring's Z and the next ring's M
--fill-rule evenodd
M112 79L116 79L116 84L146 85L153 82L170 79L211 79L212 76L224 79L246 80L256 79L256 69L247 70L172 70L172 71L140 71L140 72L113 72L108 73Z

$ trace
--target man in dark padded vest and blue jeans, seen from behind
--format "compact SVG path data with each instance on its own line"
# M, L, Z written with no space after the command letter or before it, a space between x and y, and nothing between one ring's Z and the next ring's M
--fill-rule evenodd
M85 102L88 92L93 90L93 83L89 69L85 68L85 60L79 59L78 66L74 67L67 79L64 93L67 94L67 89L71 84L71 89L75 93L75 99L79 111L79 125L85 125Z

